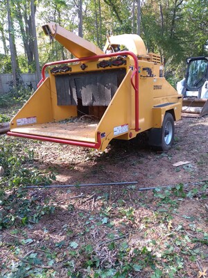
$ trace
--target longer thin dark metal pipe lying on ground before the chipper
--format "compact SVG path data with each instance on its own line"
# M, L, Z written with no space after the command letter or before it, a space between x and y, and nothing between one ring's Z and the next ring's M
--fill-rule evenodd
M86 183L86 184L61 184L61 185L52 185L52 186L25 186L24 188L70 188L70 187L87 187L87 186L123 186L125 184L136 184L137 181L121 181L114 183Z

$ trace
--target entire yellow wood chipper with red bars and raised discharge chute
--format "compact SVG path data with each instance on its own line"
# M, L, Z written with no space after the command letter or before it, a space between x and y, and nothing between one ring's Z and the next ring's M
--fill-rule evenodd
M43 30L76 58L44 65L37 90L10 122L9 136L103 152L114 138L148 131L149 145L170 149L182 95L139 35L111 36L102 51L54 22Z

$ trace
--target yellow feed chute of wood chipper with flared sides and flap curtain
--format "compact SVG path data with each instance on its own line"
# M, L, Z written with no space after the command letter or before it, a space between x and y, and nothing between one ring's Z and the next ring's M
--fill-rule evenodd
M133 56L137 62L134 54L128 51L124 54ZM119 54L102 55L101 58L108 56L117 61ZM97 60L97 57L90 59ZM128 133L130 129L131 79L135 72L128 70L126 73L129 58L126 57L125 62L120 59L123 66L115 65L114 69L96 70L98 63L91 62L92 72L50 74L12 119L8 135L104 150L112 138ZM67 62L74 60L80 59ZM80 108L87 108L88 113L94 115L77 117Z

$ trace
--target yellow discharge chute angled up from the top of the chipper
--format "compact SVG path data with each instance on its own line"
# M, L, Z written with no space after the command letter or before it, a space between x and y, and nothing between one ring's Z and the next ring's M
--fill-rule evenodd
M55 22L50 22L42 26L42 28L46 35L51 35L51 37L60 42L60 44L77 58L104 54L104 52L92 42L88 42L87 40L78 37L78 35L62 28Z

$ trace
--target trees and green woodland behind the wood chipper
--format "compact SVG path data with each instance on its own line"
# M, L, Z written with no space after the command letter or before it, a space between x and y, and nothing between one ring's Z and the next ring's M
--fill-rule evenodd
M18 88L18 74L36 72L40 80L44 63L71 58L44 36L41 26L56 22L101 49L107 35L141 35L175 86L187 57L208 54L207 18L207 0L1 0L0 73L12 73Z

